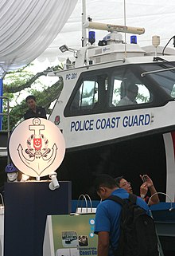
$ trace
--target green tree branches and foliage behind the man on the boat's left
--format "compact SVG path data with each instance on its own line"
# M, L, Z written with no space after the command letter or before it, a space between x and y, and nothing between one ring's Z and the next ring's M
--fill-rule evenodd
M3 77L3 96L6 96L9 100L3 100L3 112L7 112L8 104L10 103L10 129L14 128L20 120L22 120L27 105L25 99L18 104L18 98L22 94L33 94L37 98L37 104L45 107L46 112L51 112L50 104L56 100L60 95L63 88L63 81L61 77L50 86L44 85L39 81L40 77L45 77L50 72L56 73L56 71L63 69L62 65L56 65L49 67L42 72L33 74L29 71L29 65L23 69L18 69L13 72L6 73ZM37 89L33 89L33 85L37 85ZM13 104L12 104L13 103ZM2 129L7 129L7 117L3 116Z

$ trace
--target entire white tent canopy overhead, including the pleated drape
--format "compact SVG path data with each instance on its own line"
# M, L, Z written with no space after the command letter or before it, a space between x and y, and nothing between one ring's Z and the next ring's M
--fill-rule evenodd
M38 61L64 61L70 53L60 53L61 45L74 49L81 46L83 1L2 0L0 67L17 69L37 57ZM87 17L94 22L125 25L124 2L126 26L146 29L146 33L138 36L139 45L151 45L152 36L159 35L164 46L173 37L174 0L87 0ZM107 31L96 30L96 43L106 34ZM129 40L130 35L126 34L126 42Z

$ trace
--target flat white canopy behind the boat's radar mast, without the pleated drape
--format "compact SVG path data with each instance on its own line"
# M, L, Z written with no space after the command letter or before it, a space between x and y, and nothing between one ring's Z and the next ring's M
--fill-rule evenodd
M72 12L68 22L65 23L56 39L49 48L37 58L38 61L48 59L52 61L64 61L70 53L60 53L61 45L68 45L73 49L81 46L81 13L82 1L78 0L76 8ZM174 0L87 0L86 13L93 22L125 25L124 2L126 2L126 26L144 27L146 32L138 36L138 44L151 45L152 36L161 37L161 46L165 46L175 34L173 22L175 21ZM96 30L96 43L107 34L107 31ZM122 34L125 40L124 34ZM126 43L130 41L130 34L126 34ZM169 44L173 47L173 41Z

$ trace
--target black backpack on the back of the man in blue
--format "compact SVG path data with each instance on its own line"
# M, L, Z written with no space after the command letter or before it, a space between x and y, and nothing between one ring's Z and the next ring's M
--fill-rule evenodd
M107 199L122 205L119 246L112 248L116 256L158 256L154 219L136 204L137 195L121 199L111 195Z

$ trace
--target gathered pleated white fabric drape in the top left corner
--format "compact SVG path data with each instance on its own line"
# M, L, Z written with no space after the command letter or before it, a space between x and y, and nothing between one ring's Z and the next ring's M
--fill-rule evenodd
M77 0L1 0L0 67L18 69L38 57L60 32Z

